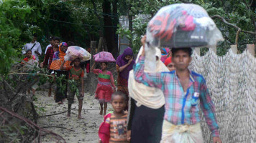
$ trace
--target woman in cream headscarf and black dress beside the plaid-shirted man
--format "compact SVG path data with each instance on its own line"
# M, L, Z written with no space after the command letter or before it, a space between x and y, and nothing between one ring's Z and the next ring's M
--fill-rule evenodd
M140 48L138 57L142 54L143 47ZM147 72L169 71L161 59L161 51L155 48L156 69ZM160 142L162 136L163 116L165 113L165 97L160 89L147 87L134 80L134 71L129 71L128 79L129 89L129 114L128 114L128 138L131 142L155 143ZM130 132L132 135L130 137Z

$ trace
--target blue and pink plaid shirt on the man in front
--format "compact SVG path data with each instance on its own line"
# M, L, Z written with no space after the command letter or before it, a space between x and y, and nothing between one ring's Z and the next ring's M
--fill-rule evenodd
M144 66L145 56L141 56L138 63L134 65L134 78L137 82L149 87L162 89L165 95L165 120L175 125L197 124L201 121L199 115L200 104L212 136L219 137L215 107L211 101L204 77L190 71L188 89L183 91L175 71L145 73Z

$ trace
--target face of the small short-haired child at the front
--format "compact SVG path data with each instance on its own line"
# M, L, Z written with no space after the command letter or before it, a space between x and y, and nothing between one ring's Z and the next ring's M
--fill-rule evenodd
M111 101L111 105L116 113L121 113L126 106L124 98L122 96L116 95Z

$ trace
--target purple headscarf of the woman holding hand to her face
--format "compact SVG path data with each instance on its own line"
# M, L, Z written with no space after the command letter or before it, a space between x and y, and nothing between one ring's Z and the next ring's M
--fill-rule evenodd
M128 47L127 49L124 49L124 53L120 56L117 57L116 59L116 64L121 67L124 66L125 64L128 63L128 60L126 60L124 57L130 55L133 57L133 51L130 47ZM131 64L129 64L129 66L127 66L127 68L125 68L122 72L119 72L119 75L123 78L123 79L128 79L129 77L129 71L132 70L133 65L134 65L135 61L134 59L132 59Z

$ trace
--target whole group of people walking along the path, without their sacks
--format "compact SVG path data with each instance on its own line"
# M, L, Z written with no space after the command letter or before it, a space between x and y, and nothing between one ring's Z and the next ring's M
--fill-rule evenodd
M83 78L88 69L81 68L79 58L65 61L65 51L73 45L72 42L60 42L58 37L50 37L41 66L48 69L52 79L59 77L55 80L55 102L63 104L64 99L68 99L67 116L70 117L76 95L78 119L81 119ZM99 114L104 114L104 122L99 127L99 142L204 142L198 114L200 105L214 143L221 143L206 81L200 74L188 69L192 49L172 49L170 52L169 48L156 48L155 57L152 57L156 60L156 68L150 71L145 66L144 47L145 37L142 38L142 47L136 59L129 47L117 57L117 85L114 84L113 74L107 70L107 62L99 63L101 69L94 69L96 62L91 66L91 72L98 75L95 98L99 100ZM36 36L24 46L23 53L26 55L24 61L38 61L42 49ZM74 80L75 85L68 86L67 79ZM52 85L49 87L49 97ZM108 103L111 103L114 111L107 114Z

